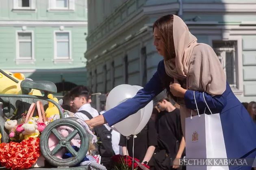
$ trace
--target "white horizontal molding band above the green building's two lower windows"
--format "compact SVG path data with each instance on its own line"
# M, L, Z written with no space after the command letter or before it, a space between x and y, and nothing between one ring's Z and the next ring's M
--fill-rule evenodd
M0 27L87 27L87 21L0 21Z

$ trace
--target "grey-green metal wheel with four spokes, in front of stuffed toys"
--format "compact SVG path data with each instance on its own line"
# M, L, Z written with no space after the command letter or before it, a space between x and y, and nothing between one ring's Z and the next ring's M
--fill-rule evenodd
M56 130L57 127L61 126L72 127L74 131L67 137L63 137ZM57 144L56 147L50 151L48 140L50 134L52 133L54 136L56 136L57 139L59 139L59 144ZM70 145L70 141L76 136L76 134L79 134L81 138L81 146L78 152L76 152ZM63 148L66 148L67 151L73 155L73 157L68 159L60 159L54 155ZM89 149L89 136L85 130L85 127L83 127L81 123L75 121L74 119L57 119L49 123L43 130L40 137L40 149L43 157L45 157L45 159L53 166L72 167L82 161L82 159L84 159L86 156L86 153Z

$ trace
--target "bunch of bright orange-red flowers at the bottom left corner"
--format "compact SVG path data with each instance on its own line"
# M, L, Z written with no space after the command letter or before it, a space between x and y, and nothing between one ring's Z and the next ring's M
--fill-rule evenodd
M0 144L0 164L7 169L23 170L30 168L40 156L39 138L29 138L20 143Z

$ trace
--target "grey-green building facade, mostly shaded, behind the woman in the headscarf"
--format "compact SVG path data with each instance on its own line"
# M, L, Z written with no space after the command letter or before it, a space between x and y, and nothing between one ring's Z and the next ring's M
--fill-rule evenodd
M163 60L152 25L166 14L179 15L199 43L213 47L241 102L256 101L255 0L88 0L85 57L93 91L151 79Z

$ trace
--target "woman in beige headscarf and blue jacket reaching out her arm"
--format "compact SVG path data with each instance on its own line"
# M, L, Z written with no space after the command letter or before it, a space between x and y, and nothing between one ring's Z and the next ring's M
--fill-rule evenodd
M112 126L145 107L154 96L167 89L167 95L174 100L184 98L185 104L180 106L184 135L185 118L190 116L191 110L193 115L197 114L195 93L200 114L206 108L204 98L212 113L220 113L228 158L255 158L256 126L226 82L226 75L213 49L197 43L197 38L176 15L159 18L153 25L153 31L154 45L164 60L159 62L152 79L135 97L86 122L91 127L104 123ZM187 88L180 86L178 76L187 77ZM206 114L209 114L207 109ZM249 167L239 170L242 168Z

